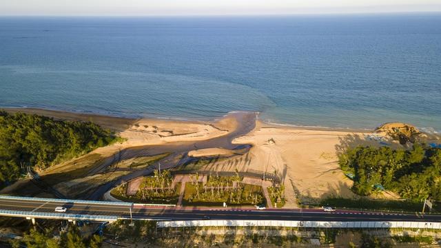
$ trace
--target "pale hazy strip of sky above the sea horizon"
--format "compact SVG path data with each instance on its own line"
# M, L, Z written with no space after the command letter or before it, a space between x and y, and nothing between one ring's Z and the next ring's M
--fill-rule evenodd
M440 0L0 0L0 15L218 15L441 12Z

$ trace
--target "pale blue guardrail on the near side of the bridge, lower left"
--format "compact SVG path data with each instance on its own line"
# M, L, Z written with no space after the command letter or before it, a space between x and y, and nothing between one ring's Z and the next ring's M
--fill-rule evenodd
M118 220L118 216L103 216L103 215L90 215L90 214L63 214L63 213L1 210L1 209L0 209L0 216L63 219L63 220L96 220L96 221L110 221L110 222Z

